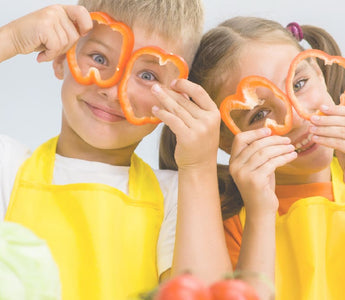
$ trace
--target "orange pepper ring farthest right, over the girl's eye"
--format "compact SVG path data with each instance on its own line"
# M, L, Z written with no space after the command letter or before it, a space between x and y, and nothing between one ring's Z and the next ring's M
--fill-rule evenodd
M317 49L308 49L300 52L291 62L289 71L288 71L288 76L286 79L286 92L287 95L295 108L296 112L300 115L301 118L310 120L310 117L314 114L322 114L321 112L317 113L308 113L303 109L303 106L300 104L298 101L298 98L295 95L294 92L294 86L293 86L293 80L296 72L296 68L298 64L305 60L306 58L309 57L316 57L319 59L322 59L325 62L325 65L332 65L334 63L342 66L345 68L345 58L341 56L331 56L321 50ZM343 94L340 96L340 105L345 105L345 91Z

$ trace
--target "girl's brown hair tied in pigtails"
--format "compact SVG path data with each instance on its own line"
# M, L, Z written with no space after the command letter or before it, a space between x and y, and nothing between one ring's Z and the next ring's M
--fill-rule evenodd
M330 55L341 56L341 51L333 37L322 28L304 25L304 40L314 49L320 49ZM287 43L295 45L300 51L303 47L295 37L281 24L256 17L235 17L229 19L204 34L191 68L189 79L200 84L219 105L218 92L225 80L239 67L239 55L243 47L250 42ZM330 95L335 103L345 89L344 71L341 67L330 68L318 62L324 74ZM230 145L233 135L222 122L222 143ZM160 142L159 165L162 169L177 169L174 160L176 139L171 130L164 126ZM229 148L228 148L229 149ZM228 166L218 166L219 190L222 199L223 219L237 214L243 201L236 188Z

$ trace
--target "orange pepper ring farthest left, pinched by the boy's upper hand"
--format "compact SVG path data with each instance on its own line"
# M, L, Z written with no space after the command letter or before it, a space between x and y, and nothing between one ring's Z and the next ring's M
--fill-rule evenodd
M112 30L119 32L122 35L122 45L119 63L113 76L108 79L101 79L99 71L96 68L90 68L88 73L84 76L76 58L75 44L66 53L67 62L74 79L83 85L97 84L102 88L107 88L115 85L120 79L125 69L127 60L129 59L134 45L134 35L132 30L124 23L115 21L112 17L104 12L91 12L91 19L99 24L107 25Z

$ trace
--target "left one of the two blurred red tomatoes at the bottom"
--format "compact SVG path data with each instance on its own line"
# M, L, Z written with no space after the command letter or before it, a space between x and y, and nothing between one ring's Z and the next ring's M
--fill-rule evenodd
M212 300L212 297L198 278L183 274L163 283L153 300Z

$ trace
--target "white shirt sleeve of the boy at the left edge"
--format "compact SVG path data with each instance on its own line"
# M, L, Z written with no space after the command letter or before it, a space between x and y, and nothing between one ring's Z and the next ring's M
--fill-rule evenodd
M0 220L5 218L18 169L29 156L29 148L0 134Z

